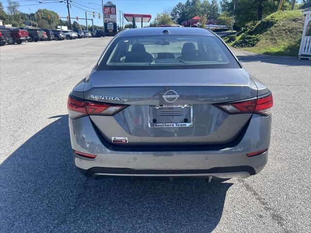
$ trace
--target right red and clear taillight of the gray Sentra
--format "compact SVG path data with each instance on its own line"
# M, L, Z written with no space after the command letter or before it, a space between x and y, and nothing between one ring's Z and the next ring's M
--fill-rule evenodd
M228 114L257 113L263 116L269 116L272 113L273 98L270 93L258 99L220 103L216 104L216 106L225 110Z

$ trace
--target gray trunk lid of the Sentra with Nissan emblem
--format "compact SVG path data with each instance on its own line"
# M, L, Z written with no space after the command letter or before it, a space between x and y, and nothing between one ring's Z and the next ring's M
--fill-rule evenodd
M104 70L90 75L84 98L129 105L114 116L90 116L109 143L185 146L233 141L252 114L229 115L213 104L254 98L257 92L249 74L237 68Z

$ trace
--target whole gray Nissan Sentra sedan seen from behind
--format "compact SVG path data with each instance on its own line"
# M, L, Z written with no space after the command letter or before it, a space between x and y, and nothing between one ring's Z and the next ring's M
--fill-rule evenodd
M266 165L272 94L199 28L117 34L68 99L86 176L246 178Z

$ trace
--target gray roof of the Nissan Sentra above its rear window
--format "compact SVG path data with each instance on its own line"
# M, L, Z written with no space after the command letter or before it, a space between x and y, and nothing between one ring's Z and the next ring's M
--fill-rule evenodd
M164 30L168 30L169 34L175 35L214 35L210 31L202 28L188 27L154 27L154 28L135 28L123 30L118 37L140 36L140 35L160 35Z

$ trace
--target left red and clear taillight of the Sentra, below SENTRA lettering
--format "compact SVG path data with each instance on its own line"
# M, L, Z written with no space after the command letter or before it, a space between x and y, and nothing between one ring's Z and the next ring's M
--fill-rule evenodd
M112 116L128 105L114 104L114 103L101 103L91 102L82 99L77 99L69 96L67 101L67 108L69 116L73 119L85 115L104 115Z

